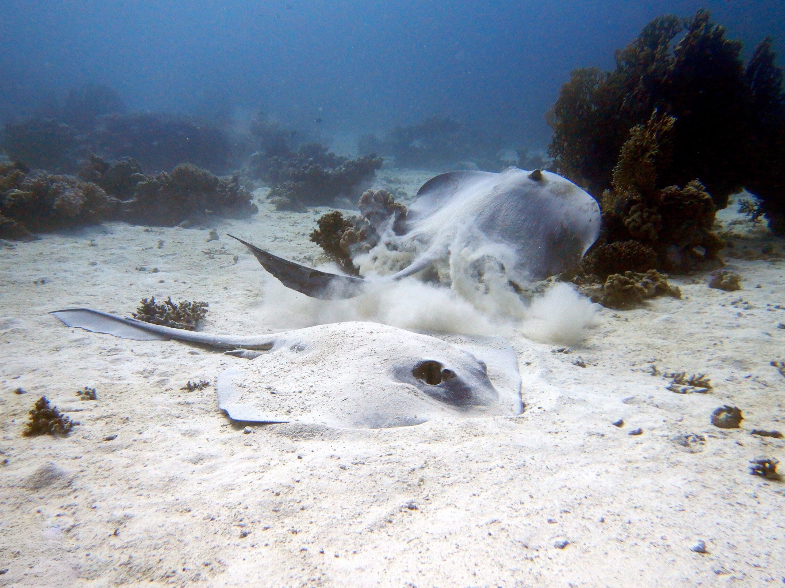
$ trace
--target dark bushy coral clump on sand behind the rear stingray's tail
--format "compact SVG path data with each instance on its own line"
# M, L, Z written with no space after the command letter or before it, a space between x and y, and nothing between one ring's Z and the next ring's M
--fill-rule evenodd
M284 145L253 154L247 169L251 176L272 185L268 198L277 209L301 210L351 197L361 184L373 179L382 162L371 155L349 159L320 143L305 143L298 151Z

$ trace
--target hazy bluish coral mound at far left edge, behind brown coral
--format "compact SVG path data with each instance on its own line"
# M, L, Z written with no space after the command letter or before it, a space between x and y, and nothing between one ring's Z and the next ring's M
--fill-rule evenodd
M54 171L71 169L77 142L64 122L54 118L28 118L5 123L0 146L13 161Z

